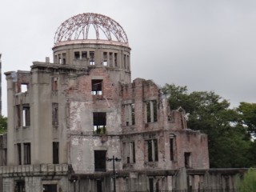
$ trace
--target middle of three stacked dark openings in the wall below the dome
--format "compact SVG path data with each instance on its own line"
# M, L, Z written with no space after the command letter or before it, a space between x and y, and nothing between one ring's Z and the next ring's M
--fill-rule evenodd
M94 113L94 134L106 134L106 113Z

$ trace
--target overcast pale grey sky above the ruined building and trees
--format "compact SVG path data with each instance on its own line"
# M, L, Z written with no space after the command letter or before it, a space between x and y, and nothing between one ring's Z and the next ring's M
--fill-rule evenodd
M52 62L58 26L87 12L126 31L133 79L213 90L232 106L256 102L255 0L2 0L2 72ZM5 76L2 105L6 116Z

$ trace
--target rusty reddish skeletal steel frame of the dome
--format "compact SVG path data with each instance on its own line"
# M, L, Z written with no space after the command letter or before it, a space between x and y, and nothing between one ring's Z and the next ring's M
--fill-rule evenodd
M55 33L54 43L89 39L90 26L94 27L97 40L107 39L108 41L118 41L128 44L126 32L118 22L105 15L94 13L78 14L67 19L58 27ZM100 31L106 37L100 37L100 34L102 34ZM116 40L113 38L116 38Z

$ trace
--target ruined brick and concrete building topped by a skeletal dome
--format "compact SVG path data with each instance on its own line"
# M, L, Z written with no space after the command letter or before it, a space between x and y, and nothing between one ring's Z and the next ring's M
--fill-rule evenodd
M54 62L5 73L4 192L112 191L114 182L116 191L220 188L206 134L187 129L184 110L170 111L154 82L131 82L118 22L78 14L54 39Z

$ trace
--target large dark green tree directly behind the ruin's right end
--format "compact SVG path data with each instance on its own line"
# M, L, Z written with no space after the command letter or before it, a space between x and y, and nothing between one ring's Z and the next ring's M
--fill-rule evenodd
M188 93L186 86L174 84L166 84L163 91L171 110L179 106L186 110L188 128L208 135L210 167L254 166L255 159L249 153L253 142L242 126L242 112L230 109L230 102L213 91ZM252 118L248 119L252 122Z

